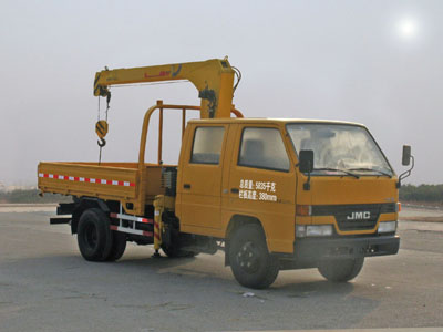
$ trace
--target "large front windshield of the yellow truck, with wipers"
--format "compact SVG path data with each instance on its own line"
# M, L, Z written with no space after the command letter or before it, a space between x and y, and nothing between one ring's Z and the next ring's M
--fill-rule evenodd
M287 125L296 153L313 151L312 174L342 175L343 170L358 175L392 177L393 172L368 131L341 124Z

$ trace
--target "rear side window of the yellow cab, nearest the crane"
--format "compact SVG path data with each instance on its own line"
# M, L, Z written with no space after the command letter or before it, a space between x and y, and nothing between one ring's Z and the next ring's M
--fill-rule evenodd
M224 127L197 127L194 134L190 163L218 165L224 134Z

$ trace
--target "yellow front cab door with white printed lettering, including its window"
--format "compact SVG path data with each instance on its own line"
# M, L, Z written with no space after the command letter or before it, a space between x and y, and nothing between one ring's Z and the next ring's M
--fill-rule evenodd
M292 252L296 173L281 131L271 125L239 125L223 215L257 218L270 251Z

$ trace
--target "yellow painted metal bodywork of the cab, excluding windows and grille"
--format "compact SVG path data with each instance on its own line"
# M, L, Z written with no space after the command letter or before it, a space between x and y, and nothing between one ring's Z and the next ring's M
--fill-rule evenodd
M373 234L378 224L369 230L341 231L338 228L333 217L299 217L296 216L296 204L298 205L350 205L350 204L383 204L399 200L399 193L395 187L396 176L392 178L380 176L365 176L360 179L352 177L311 177L311 189L305 190L303 183L307 176L301 174L295 165L298 164L298 157L292 148L290 138L285 135L285 125L296 120L212 120L210 123L205 120L195 120L188 123L184 146L181 154L181 169L177 180L176 216L181 219L181 231L226 238L229 222L241 216L253 217L262 225L268 248L272 252L293 252L295 226L296 224L331 224L339 235L358 236ZM316 122L316 121L312 121ZM318 123L318 122L317 122ZM328 123L328 122L322 122ZM210 166L190 165L188 163L193 133L197 126L229 126L229 133L225 141L224 153L220 156L218 165L223 172L222 185L216 188L220 195L220 220L202 216L197 212L198 205L209 203L207 195L189 196L184 189L184 184L190 184L192 188L199 186L212 187L215 175L208 173ZM241 129L244 126L254 127L276 127L279 128L284 139L287 153L291 159L288 173L274 172L269 169L259 169L238 166L238 151L241 139ZM187 176L183 167L202 168L195 170L195 176ZM213 166L216 172L215 166ZM205 175L205 176L198 176ZM257 201L239 199L238 193L233 193L231 188L239 188L241 179L275 183L278 196L277 201ZM194 200L194 201L193 201ZM193 203L193 204L190 204ZM190 209L190 210L189 210ZM215 207L214 207L215 209ZM193 218L186 219L186 215ZM198 218L198 220L196 219ZM383 214L380 220L396 220L398 214ZM379 221L380 221L379 220Z

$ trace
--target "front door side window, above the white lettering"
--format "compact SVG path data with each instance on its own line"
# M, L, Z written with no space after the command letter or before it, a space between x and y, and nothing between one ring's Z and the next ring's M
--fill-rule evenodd
M276 128L245 128L241 135L238 165L288 172L289 158L280 131Z

